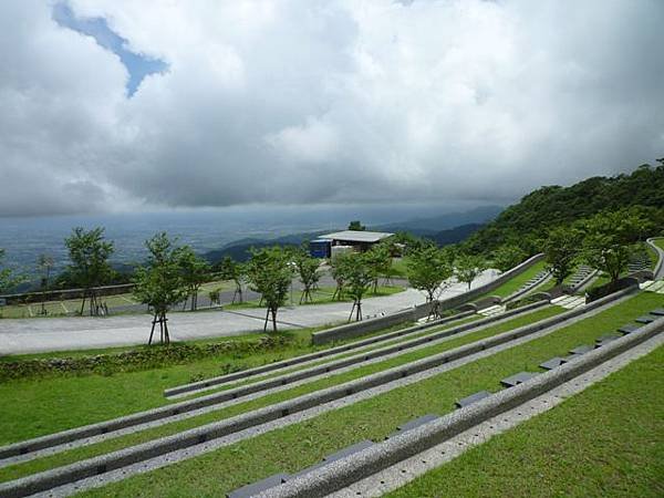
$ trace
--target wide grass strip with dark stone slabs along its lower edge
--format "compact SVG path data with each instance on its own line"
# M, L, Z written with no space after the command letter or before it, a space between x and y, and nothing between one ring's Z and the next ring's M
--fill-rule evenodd
M452 412L460 397L481 390L499 391L500 378L537 371L540 362L590 344L625 321L661 307L662 299L655 295L641 293L547 336L440 375L81 496L218 497L276 473L298 471L362 439L383 440L397 425L415 417Z

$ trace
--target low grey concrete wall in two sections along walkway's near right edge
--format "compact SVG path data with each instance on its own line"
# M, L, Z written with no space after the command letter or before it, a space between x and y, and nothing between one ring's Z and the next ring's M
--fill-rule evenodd
M515 268L506 271L497 279L485 283L484 286L469 290L468 292L464 292L461 294L454 295L452 298L439 301L440 310L446 311L455 309L460 304L465 304L466 302L477 298L478 295L483 295L487 292L492 291L494 289L500 287L507 280L526 271L532 264L540 261L543 257L543 253L536 255L527 259L522 263L517 264ZM311 335L311 341L313 344L324 344L325 342L335 341L339 339L356 338L359 335L363 335L380 329L385 329L387 326L396 325L398 323L419 320L421 318L424 318L429 314L430 308L432 303L425 303L385 317L335 326L333 329L328 329L321 332L313 333Z

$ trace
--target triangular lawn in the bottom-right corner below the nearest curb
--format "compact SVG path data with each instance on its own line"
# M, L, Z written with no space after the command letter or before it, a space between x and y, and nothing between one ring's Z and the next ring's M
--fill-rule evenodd
M387 495L664 496L664 346Z

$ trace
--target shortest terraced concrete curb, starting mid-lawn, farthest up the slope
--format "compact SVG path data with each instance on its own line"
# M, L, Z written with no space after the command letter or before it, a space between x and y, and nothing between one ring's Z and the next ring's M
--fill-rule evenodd
M302 363L307 363L313 360L320 360L326 356L332 356L334 354L344 353L347 351L356 350L360 347L364 347L366 345L376 344L378 342L388 341L391 339L401 338L403 335L408 335L414 332L419 332L425 329L440 326L449 322L454 322L456 320L461 320L464 318L468 318L475 314L475 311L465 311L461 313L457 313L453 317L446 317L440 320L430 321L427 323L421 323L417 325L408 326L407 329L397 330L394 332L387 332L385 334L376 335L374 338L365 339L364 341L353 342L351 344L345 344L342 346L331 347L329 350L320 351L318 353L304 354L302 356L295 356L289 360L283 360L281 362L270 363L268 365L257 366L256 369L243 370L241 372L235 372L227 375L220 375L218 377L206 378L205 381L193 382L190 384L183 384L175 387L170 387L168 390L164 390L164 396L175 396L178 394L190 393L196 391L201 391L206 387L212 387L216 385L226 384L227 382L238 381L251 377L253 375L259 375L268 372L272 372L274 370L284 369L287 366L294 366Z

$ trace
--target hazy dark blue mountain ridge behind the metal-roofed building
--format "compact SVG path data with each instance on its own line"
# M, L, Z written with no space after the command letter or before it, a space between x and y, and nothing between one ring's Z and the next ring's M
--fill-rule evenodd
M449 212L430 218L414 218L408 221L370 226L367 229L395 234L407 231L416 236L429 238L439 246L445 246L465 240L479 230L486 222L498 216L501 210L500 206L481 206L469 211ZM343 229L345 227L339 228L339 230ZM252 247L259 249L269 246L299 246L304 241L315 239L330 231L334 230L291 234L271 239L243 238L227 243L220 249L208 251L203 256L210 262L217 262L226 256L230 256L238 261L246 261L249 258L249 249Z

